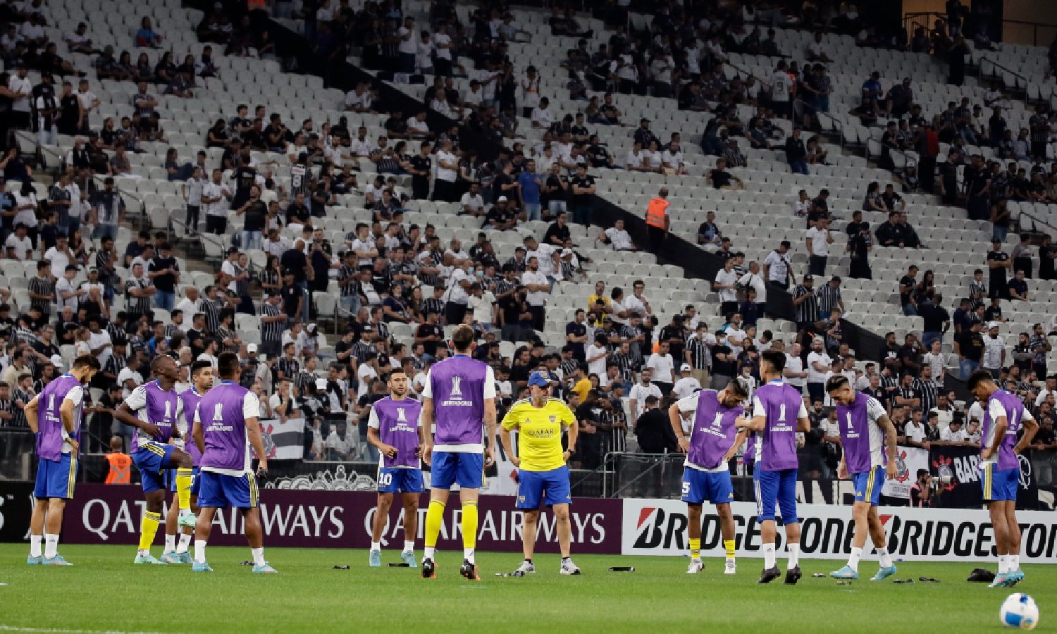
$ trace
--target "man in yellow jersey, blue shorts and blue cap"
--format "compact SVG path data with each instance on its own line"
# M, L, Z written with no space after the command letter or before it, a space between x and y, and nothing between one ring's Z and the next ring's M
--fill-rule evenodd
M521 527L521 552L524 561L514 571L515 577L535 573L533 553L536 549L536 525L539 506L546 504L554 509L558 528L558 546L561 548L562 575L579 575L570 554L572 526L569 523L569 505L573 503L569 487L569 467L565 463L576 447L576 416L564 403L551 398L551 379L545 372L528 376L528 398L518 400L503 416L499 431L503 450L518 467L517 508L524 510ZM569 430L569 449L561 449L562 428ZM518 452L514 454L511 431L518 430Z

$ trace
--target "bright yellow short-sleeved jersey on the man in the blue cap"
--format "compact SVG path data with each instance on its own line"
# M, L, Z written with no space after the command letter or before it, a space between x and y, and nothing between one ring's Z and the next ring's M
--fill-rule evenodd
M543 407L533 406L530 398L518 400L503 416L503 429L518 430L519 468L525 471L563 467L561 428L573 425L576 425L576 416L557 398L549 398Z

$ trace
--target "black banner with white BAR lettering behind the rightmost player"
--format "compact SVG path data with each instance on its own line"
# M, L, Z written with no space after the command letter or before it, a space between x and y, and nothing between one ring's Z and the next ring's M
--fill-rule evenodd
M929 450L929 471L940 486L933 493L932 506L979 508L983 504L979 448L933 445ZM1038 507L1039 489L1032 473L1032 463L1026 455L1021 455L1017 508Z

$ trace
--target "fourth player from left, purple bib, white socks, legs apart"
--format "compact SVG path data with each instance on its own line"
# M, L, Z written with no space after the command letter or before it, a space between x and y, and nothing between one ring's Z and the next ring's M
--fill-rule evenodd
M259 508L260 490L251 469L257 453L257 472L267 476L267 454L260 426L260 400L239 385L242 371L234 352L222 352L217 358L221 381L199 400L191 434L202 452L199 471L199 517L194 525L196 573L211 573L205 560L205 544L209 541L212 518L218 508L238 508L242 514L255 573L275 573L264 561L264 530Z

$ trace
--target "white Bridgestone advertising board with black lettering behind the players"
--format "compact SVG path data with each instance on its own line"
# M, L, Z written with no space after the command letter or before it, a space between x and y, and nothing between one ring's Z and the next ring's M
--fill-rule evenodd
M756 505L730 504L738 557L762 557ZM964 561L994 557L995 532L985 510L880 507L892 557L908 561ZM701 551L723 557L720 519L705 506ZM799 504L800 551L815 559L845 559L854 533L850 506ZM1032 563L1057 563L1057 514L1018 511L1023 532L1021 556ZM675 500L624 501L624 555L683 555L687 552L686 504ZM782 525L781 518L778 525ZM778 530L778 548L784 534Z

